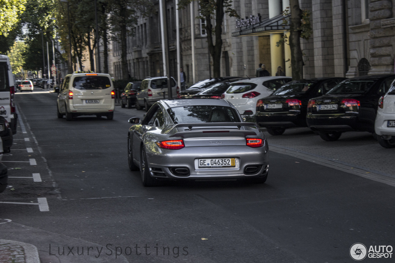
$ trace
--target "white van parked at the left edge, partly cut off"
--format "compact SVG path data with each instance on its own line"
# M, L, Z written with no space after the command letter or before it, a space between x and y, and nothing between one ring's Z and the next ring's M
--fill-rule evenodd
M0 116L11 127L12 134L17 133L17 118L14 102L15 81L8 56L0 55Z

